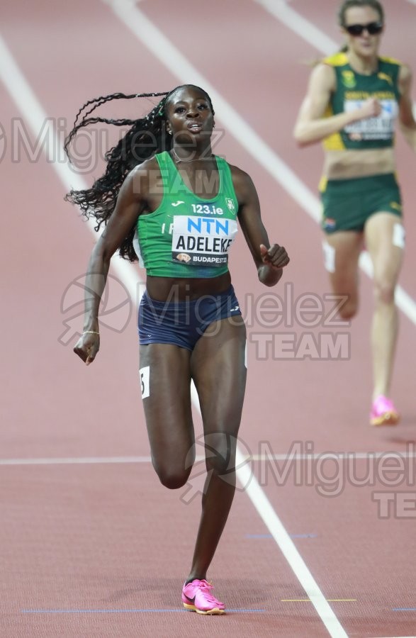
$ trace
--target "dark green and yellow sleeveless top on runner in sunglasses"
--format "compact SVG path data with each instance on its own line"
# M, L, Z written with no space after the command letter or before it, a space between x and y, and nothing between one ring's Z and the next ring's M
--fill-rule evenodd
M334 68L337 89L332 94L325 116L329 117L354 111L369 98L381 103L381 114L347 125L323 142L327 150L370 149L392 147L394 143L395 119L398 116L398 76L400 62L388 57L378 58L378 69L371 75L362 75L350 67L345 53L337 53L323 60Z

